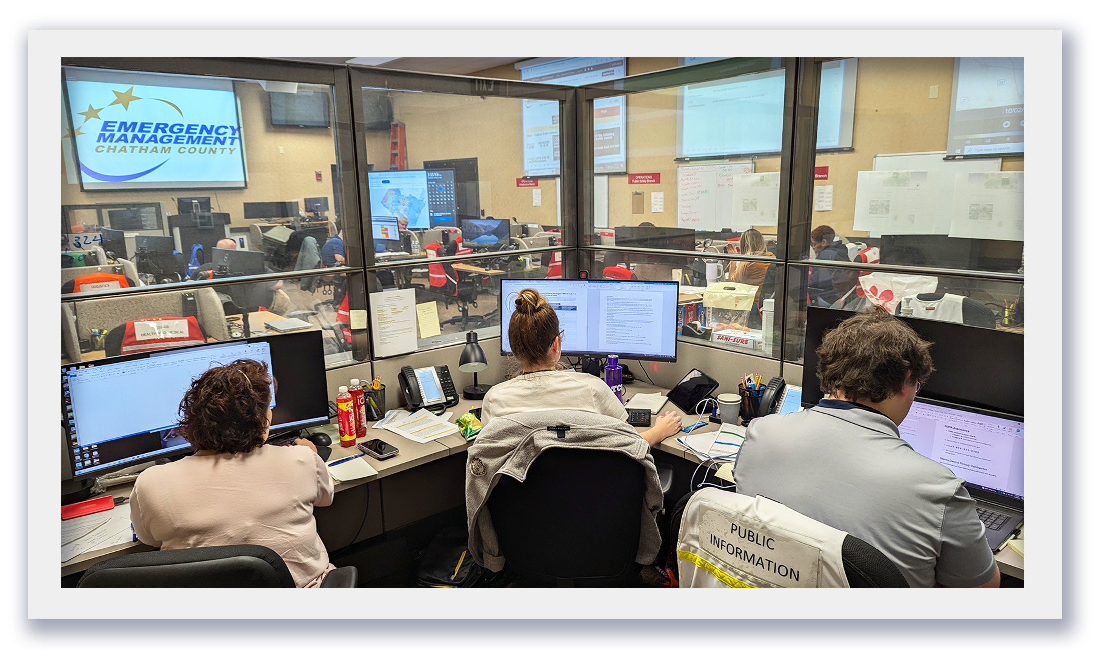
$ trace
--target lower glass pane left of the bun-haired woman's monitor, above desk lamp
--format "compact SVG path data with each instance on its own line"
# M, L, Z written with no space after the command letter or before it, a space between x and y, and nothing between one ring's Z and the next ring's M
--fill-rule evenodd
M561 278L574 257L573 249L543 251L378 268L368 271L369 290L411 289L416 305L433 305L416 324L416 349L426 350L464 341L467 332L480 338L499 336L500 280Z

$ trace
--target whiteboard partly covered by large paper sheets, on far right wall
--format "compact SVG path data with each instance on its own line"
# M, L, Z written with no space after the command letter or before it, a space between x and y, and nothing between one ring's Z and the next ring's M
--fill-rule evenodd
M912 233L890 231L871 231L868 236L878 237L884 234L948 234L951 231L951 214L954 206L956 177L966 178L970 173L1000 172L1000 158L975 158L964 160L944 160L946 151L926 151L924 153L879 153L876 154L871 169L877 172L926 171L931 174L931 183L926 187L924 205L926 210L936 214L932 230Z

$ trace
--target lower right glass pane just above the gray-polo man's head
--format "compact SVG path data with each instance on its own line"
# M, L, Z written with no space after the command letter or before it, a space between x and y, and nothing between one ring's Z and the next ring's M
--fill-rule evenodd
M785 360L803 358L807 306L889 313L972 327L1024 332L1024 283L959 276L872 271L849 267L788 267Z

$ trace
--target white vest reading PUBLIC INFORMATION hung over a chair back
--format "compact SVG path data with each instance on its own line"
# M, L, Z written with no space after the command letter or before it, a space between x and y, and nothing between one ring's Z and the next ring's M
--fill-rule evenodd
M682 513L682 589L844 588L846 533L765 497L697 490Z

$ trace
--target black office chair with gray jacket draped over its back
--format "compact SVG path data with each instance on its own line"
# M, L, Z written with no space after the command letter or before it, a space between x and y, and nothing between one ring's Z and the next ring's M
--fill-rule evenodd
M501 475L488 499L506 568L533 587L641 584L643 465L614 451L549 449L525 481Z

